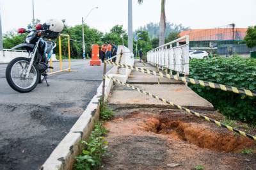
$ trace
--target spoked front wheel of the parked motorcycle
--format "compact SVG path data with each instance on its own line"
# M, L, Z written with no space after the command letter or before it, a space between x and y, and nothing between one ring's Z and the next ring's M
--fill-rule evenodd
M20 93L32 91L39 82L40 73L35 65L32 65L28 78L26 78L29 63L29 58L15 58L6 68L5 75L8 84L11 88Z

